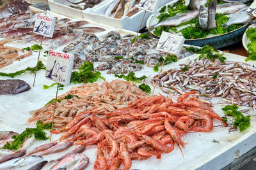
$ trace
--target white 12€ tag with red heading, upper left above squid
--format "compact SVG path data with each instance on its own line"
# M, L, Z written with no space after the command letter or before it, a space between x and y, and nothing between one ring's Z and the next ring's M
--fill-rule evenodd
M55 18L42 13L36 13L34 31L36 34L52 38L55 26Z

